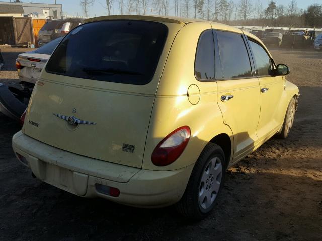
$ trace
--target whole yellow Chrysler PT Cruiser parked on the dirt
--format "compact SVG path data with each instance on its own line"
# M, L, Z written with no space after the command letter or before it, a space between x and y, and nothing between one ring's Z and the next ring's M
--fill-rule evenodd
M254 35L157 16L86 20L57 46L33 90L18 159L83 197L137 207L214 207L225 170L287 137L298 88Z

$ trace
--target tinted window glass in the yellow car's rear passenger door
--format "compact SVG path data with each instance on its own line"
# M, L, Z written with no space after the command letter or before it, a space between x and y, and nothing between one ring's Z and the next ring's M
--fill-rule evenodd
M252 77L250 59L243 37L217 31L218 48L224 79Z

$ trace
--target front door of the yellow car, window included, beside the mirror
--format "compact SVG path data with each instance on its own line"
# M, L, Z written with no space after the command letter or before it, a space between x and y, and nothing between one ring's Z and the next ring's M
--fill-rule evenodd
M261 113L256 131L260 145L278 131L284 119L281 97L285 79L271 75L273 63L270 55L259 42L248 40L260 82Z

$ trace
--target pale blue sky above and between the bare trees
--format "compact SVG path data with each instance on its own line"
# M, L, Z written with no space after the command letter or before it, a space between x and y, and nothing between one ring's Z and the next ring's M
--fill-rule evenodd
M6 1L6 0L1 0L1 1ZM237 3L239 0L234 0L235 3ZM253 5L255 2L258 0L253 0ZM268 5L269 0L260 0L262 1L263 7ZM9 0L7 2L10 2ZM31 1L22 1L22 2L32 2L32 3L47 3L47 4L54 4L55 0L31 0ZM152 0L149 0L149 2L152 2ZM173 1L170 1L171 3ZM285 5L287 6L290 0L275 0L276 5ZM62 10L64 14L66 15L74 15L74 16L83 16L84 13L82 12L82 7L80 5L81 0L56 0L57 4L62 4ZM126 3L126 0L124 0L124 3ZM311 4L322 4L322 0L297 0L297 7L299 9L303 8L306 9L307 6ZM102 16L102 15L107 15L107 9L104 8L106 7L106 2L105 0L95 0L94 5L90 7L89 9L89 17L96 17L96 16ZM148 14L153 14L150 12L151 7L148 8L149 13ZM112 7L112 13L111 14L119 14L118 13L118 0L114 0L113 7ZM155 14L155 13L154 13ZM174 10L171 10L169 15L174 15Z

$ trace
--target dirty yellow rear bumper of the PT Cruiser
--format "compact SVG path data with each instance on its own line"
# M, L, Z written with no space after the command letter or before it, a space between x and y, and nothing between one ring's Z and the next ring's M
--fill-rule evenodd
M103 197L130 206L155 208L180 200L193 165L173 171L144 170L73 154L37 141L21 131L12 140L17 155L24 156L40 180L83 197ZM118 188L112 197L95 184Z

